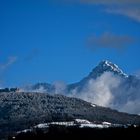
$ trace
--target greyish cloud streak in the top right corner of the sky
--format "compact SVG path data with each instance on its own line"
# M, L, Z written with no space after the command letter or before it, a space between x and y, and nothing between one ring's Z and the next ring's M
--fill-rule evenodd
M57 1L57 0L55 0ZM127 16L132 20L140 22L140 0L59 0L67 3L80 3L88 5L104 5L108 13ZM58 2L58 1L57 1ZM110 10L111 8L111 10Z

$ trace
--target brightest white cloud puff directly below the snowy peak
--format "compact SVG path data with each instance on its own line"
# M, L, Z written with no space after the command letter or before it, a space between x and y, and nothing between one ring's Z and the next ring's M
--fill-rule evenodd
M112 76L112 73L105 72L96 80L91 79L80 93L77 93L76 90L72 91L72 95L78 95L78 98L88 102L108 107L114 100L111 90L112 88L118 87L119 83L119 77Z

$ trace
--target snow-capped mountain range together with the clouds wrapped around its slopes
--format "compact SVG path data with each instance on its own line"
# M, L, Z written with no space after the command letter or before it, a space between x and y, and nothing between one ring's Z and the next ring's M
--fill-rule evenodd
M101 61L81 81L59 86L38 83L26 91L64 94L119 111L140 114L140 79L125 74L116 64Z

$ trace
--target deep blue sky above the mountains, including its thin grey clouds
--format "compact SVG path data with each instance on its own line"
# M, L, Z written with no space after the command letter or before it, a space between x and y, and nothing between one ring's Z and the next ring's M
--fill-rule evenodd
M0 86L77 82L101 60L140 70L137 0L0 1Z

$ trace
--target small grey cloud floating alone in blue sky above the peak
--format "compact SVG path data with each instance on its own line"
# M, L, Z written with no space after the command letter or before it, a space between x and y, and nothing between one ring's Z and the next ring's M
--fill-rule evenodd
M122 49L135 42L135 39L128 35L116 35L109 32L100 36L91 36L88 38L88 47L95 48L115 48Z

